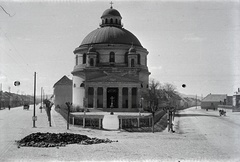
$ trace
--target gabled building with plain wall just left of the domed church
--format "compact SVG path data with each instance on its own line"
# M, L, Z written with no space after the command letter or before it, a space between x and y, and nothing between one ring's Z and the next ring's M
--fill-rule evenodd
M54 84L53 94L54 105L66 107L66 102L72 102L72 80L64 75Z

